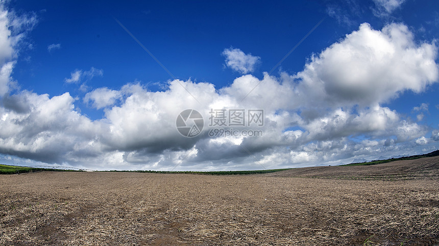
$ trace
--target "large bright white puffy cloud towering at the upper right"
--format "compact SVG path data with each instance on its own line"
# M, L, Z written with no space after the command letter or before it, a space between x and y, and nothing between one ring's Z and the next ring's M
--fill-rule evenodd
M405 90L423 91L437 81L434 43L417 44L403 24L381 31L368 23L313 56L295 79L303 102L332 106L376 105ZM309 103L307 103L309 104Z

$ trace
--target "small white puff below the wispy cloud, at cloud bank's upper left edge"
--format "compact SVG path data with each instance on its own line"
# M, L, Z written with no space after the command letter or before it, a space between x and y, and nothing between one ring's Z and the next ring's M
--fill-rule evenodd
M106 87L97 88L91 92L88 92L84 97L84 102L92 103L96 109L112 106L121 97L120 91L110 90Z

